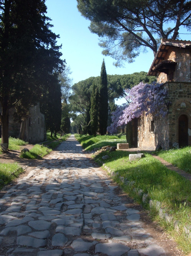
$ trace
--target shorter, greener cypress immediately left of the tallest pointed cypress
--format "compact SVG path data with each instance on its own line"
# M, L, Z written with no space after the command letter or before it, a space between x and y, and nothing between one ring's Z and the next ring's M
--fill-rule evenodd
M91 133L96 136L97 127L98 127L98 100L99 100L99 91L95 83L93 84L92 94L91 94Z

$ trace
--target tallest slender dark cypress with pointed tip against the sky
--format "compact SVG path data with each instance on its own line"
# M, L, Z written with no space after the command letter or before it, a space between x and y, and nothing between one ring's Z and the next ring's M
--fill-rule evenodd
M107 73L105 61L102 62L99 88L99 111L98 111L98 130L101 135L107 132L108 119L108 90L107 90Z

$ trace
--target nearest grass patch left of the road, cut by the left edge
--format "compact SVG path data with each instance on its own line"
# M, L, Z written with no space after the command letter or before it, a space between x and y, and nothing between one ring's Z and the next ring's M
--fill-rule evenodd
M19 177L19 174L23 172L23 168L18 164L1 164L0 163L0 189L11 183L12 180Z

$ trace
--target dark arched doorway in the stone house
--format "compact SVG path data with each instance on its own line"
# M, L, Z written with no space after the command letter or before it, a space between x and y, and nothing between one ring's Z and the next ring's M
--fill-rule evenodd
M178 143L179 147L188 146L188 117L181 115L178 119Z

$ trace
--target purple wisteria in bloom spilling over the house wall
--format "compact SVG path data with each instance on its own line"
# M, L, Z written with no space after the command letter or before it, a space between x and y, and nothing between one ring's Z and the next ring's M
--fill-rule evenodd
M165 116L167 107L163 102L163 97L167 95L167 89L163 84L153 82L151 84L139 83L131 90L126 91L128 105L119 106L112 113L112 125L108 127L112 133L117 132L117 128L124 126L134 118L140 117L143 113L153 114L154 116ZM120 112L121 111L121 112ZM118 121L117 121L118 120Z

